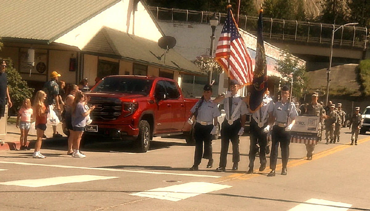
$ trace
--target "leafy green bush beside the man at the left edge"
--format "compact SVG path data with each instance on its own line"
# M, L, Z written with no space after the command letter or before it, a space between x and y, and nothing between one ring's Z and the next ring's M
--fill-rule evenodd
M6 74L8 78L8 88L13 107L11 111L16 113L22 106L22 102L26 98L32 97L33 88L29 88L26 81L22 80L21 75L13 66L13 61L10 58L4 59L7 64Z

